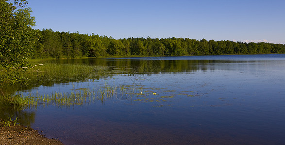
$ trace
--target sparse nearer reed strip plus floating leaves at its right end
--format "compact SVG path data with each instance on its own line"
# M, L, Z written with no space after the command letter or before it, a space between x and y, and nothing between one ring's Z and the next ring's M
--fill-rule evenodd
M108 100L133 102L168 102L174 95L159 95L159 89L144 88L139 85L119 85L116 86L105 83L101 86L90 88L75 88L73 85L71 92L51 92L49 94L16 94L0 97L0 103L17 107L18 110L26 108L37 108L39 105L55 105L59 108L71 107L100 102L104 104ZM160 91L161 92L161 91ZM162 92L164 92L162 90ZM186 94L187 95L187 94Z

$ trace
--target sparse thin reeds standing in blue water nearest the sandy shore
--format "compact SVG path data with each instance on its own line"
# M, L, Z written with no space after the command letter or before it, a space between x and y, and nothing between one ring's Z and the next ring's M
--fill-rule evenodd
M53 92L51 94L29 94L29 95L6 95L0 97L0 103L17 107L18 109L36 108L39 105L56 105L58 107L70 107L88 103L101 102L102 104L111 99L119 101L133 101L134 95L141 95L141 87L134 86L111 86L104 84L93 90L80 88L72 92Z

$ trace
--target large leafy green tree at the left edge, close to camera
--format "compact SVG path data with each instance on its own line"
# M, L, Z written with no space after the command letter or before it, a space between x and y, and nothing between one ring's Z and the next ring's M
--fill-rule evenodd
M27 0L0 0L0 87L4 83L23 81L18 73L28 68L27 58L33 53L32 46L38 39L38 31L32 29L32 10L24 8Z

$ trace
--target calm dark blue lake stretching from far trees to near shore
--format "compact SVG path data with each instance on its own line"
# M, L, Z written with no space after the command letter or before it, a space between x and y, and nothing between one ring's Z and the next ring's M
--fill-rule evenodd
M285 144L285 54L50 61L114 72L17 92L116 91L16 112L22 124L64 144Z

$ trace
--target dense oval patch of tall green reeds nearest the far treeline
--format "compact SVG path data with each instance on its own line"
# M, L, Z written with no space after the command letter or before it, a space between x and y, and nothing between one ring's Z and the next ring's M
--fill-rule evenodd
M22 77L28 78L30 83L84 81L86 79L99 79L108 72L104 66L90 66L86 64L58 64L44 63L36 66Z

